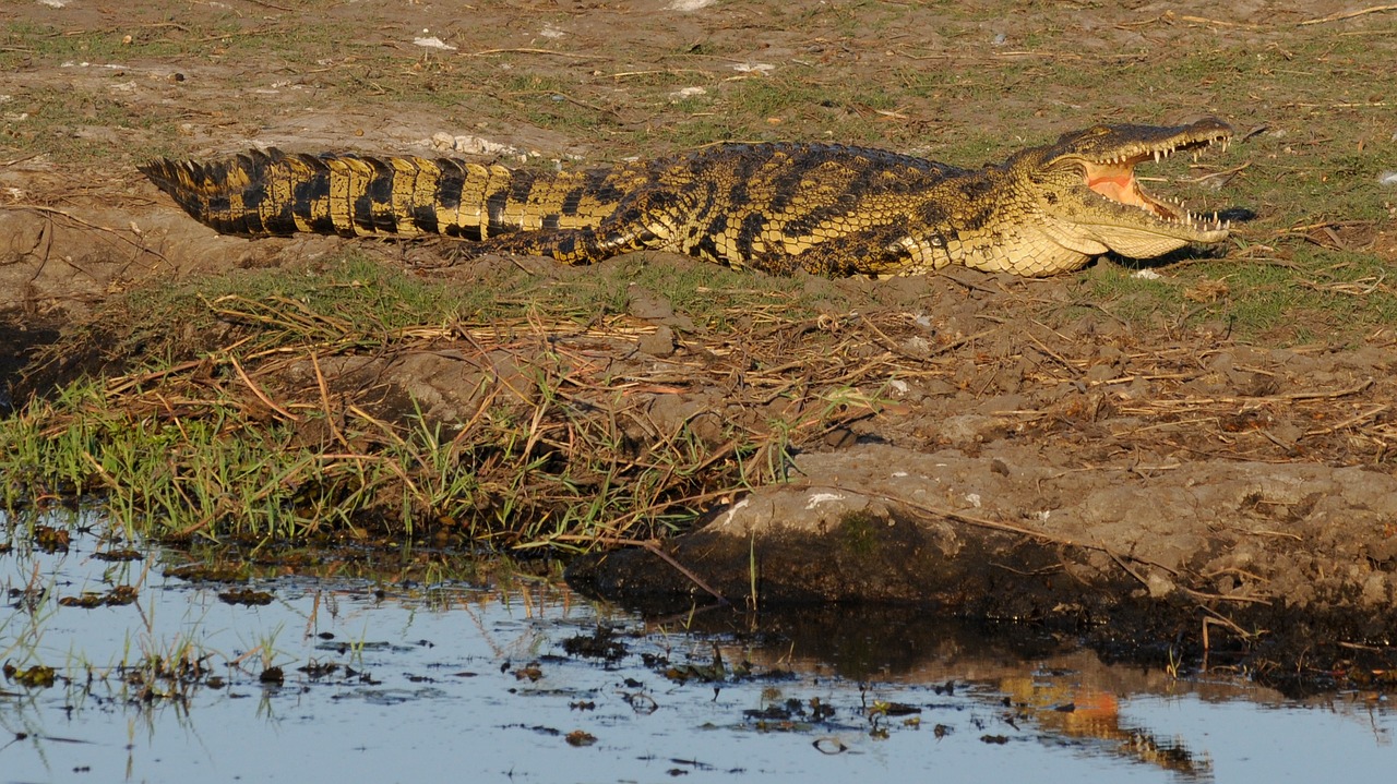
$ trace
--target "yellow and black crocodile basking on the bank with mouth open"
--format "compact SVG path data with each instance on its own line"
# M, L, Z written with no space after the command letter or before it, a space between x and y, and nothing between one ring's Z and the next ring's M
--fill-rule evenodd
M1229 226L1151 197L1137 163L1232 128L1094 126L1003 163L961 169L837 144L726 142L580 170L450 158L253 149L140 167L197 220L250 237L446 234L483 252L592 264L669 250L788 275L918 275L961 264L1046 276L1106 251L1150 258Z

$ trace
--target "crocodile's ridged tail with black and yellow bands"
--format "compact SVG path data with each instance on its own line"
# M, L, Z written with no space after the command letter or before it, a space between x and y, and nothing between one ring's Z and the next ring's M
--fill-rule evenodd
M224 234L448 234L483 240L528 229L531 172L455 159L249 151L140 170L196 220ZM543 188L553 191L556 188Z

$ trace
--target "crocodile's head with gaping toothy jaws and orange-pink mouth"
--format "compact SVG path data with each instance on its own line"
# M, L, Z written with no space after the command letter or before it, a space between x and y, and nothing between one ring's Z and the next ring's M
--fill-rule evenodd
M1213 117L1178 127L1098 126L1024 151L1009 166L1030 167L1025 179L1041 191L1037 229L1062 255L1081 255L1083 264L1106 250L1148 258L1189 243L1220 243L1228 225L1151 197L1136 179L1136 165L1213 144L1225 148L1231 135L1232 128Z

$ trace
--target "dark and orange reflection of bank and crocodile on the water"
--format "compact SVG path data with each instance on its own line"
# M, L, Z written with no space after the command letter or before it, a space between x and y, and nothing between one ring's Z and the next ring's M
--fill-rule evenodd
M696 615L690 628L773 640L745 650L759 667L854 682L930 685L937 696L967 691L993 709L999 723L983 727L986 744L1037 732L1045 745L1151 764L1182 780L1213 778L1207 753L1196 753L1176 731L1120 716L1118 695L1182 695L1194 685L1162 670L1104 665L1094 653L1052 635L936 621L919 610L887 607L806 608L770 618L711 612ZM1220 688L1210 691L1221 696ZM1229 691L1280 700L1255 686Z

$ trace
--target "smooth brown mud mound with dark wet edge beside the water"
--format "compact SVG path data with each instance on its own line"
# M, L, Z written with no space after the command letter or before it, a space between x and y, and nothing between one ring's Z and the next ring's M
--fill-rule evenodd
M1268 643L1397 622L1397 478L1365 467L1207 460L1065 470L1023 449L972 458L859 445L795 460L666 544L577 562L627 603L921 603L940 614L1118 628L1200 614ZM682 571L676 568L682 566ZM1257 642L1257 640L1250 640Z

